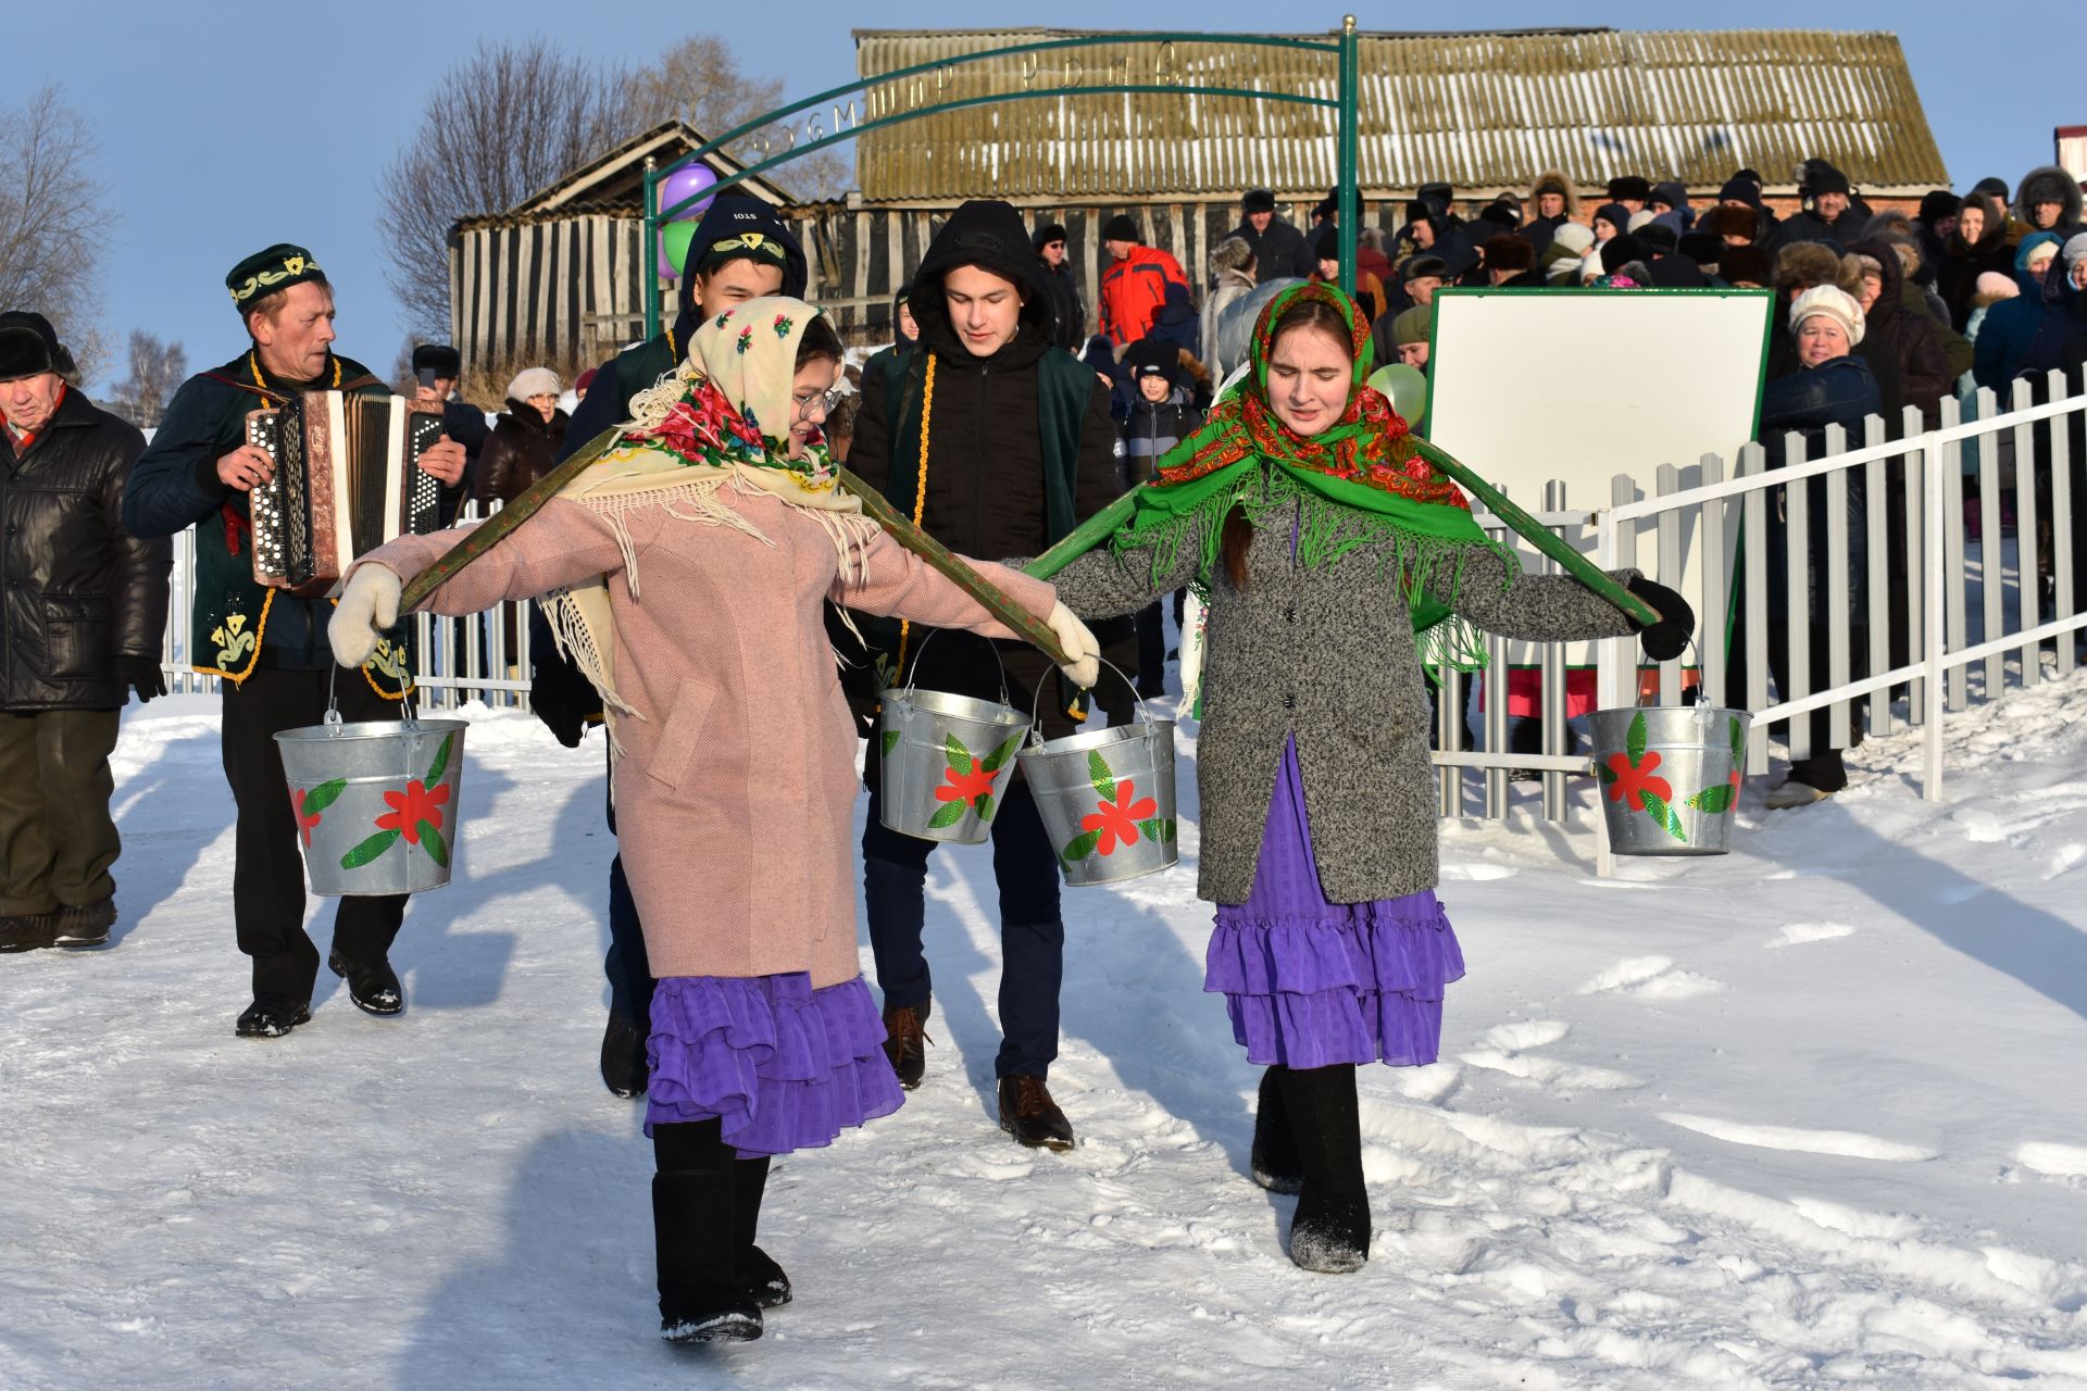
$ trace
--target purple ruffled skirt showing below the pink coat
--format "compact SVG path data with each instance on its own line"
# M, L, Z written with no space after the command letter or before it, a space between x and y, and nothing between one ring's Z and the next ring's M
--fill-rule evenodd
M722 1120L741 1160L831 1145L899 1109L885 1024L862 976L668 976L653 986L645 1132Z

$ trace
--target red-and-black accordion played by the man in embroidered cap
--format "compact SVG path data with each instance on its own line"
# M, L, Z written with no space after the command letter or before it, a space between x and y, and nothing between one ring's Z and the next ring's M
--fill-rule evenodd
M419 459L442 409L405 396L303 392L246 415L246 442L275 473L248 494L255 582L317 599L355 557L440 530L442 482Z

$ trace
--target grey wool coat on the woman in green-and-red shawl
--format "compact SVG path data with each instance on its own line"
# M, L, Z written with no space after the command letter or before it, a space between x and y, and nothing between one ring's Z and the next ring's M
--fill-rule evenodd
M1273 526L1267 526L1273 523ZM1425 674L1405 599L1384 548L1311 569L1292 561L1296 507L1263 517L1248 551L1248 586L1210 578L1202 665L1202 870L1198 895L1246 903L1261 861L1284 738L1296 736L1319 886L1334 903L1434 888L1436 788L1428 761ZM1010 561L1018 565L1021 561ZM1457 567L1461 563L1461 582ZM1567 576L1509 576L1490 546L1459 546L1428 588L1476 628L1507 638L1613 638L1630 621ZM1052 576L1083 619L1135 613L1188 584L1196 548L1152 576L1152 553L1106 546ZM1630 580L1638 571L1613 571Z

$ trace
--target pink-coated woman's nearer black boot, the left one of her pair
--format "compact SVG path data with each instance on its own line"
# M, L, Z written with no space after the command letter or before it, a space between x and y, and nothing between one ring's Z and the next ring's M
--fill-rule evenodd
M739 1283L737 1168L716 1120L653 1126L653 1247L659 1337L668 1343L743 1343L762 1335L762 1310Z

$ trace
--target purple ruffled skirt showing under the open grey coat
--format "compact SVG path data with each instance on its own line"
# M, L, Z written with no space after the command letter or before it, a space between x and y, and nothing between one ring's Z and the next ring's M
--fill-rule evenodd
M1258 1066L1432 1064L1442 991L1463 951L1432 888L1327 903L1319 890L1296 740L1269 799L1246 903L1217 907L1204 991L1225 995L1231 1036Z

